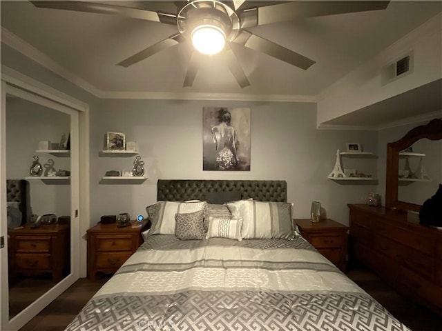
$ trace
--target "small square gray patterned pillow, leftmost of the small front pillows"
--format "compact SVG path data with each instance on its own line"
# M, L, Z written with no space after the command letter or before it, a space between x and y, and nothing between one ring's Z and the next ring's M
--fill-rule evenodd
M206 237L203 221L204 210L175 214L175 236L181 240L200 240Z

